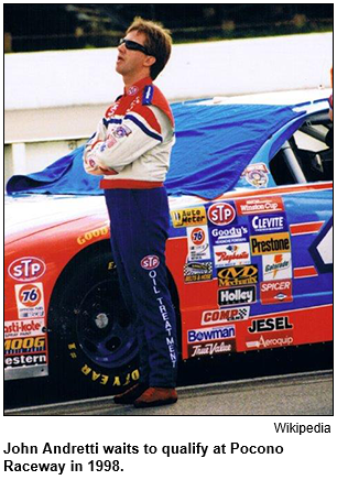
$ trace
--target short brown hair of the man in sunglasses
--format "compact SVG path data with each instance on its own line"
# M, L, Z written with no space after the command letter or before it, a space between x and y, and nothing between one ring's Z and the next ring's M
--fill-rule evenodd
M145 47L155 57L155 63L150 67L150 76L154 80L162 72L171 55L172 37L170 30L163 28L161 23L143 20L135 17L127 34L137 30L146 36Z

